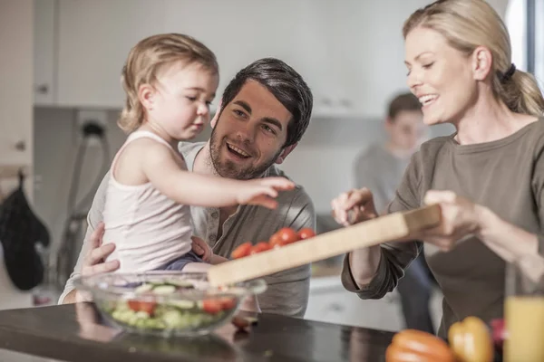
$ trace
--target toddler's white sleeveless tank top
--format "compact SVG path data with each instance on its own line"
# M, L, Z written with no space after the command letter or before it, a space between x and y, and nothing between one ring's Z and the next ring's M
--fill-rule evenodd
M151 271L191 250L189 205L180 205L162 195L149 182L122 185L113 175L121 152L139 138L152 138L178 153L158 135L140 130L127 138L113 158L103 210L103 243L115 243L108 260L119 260L118 272Z

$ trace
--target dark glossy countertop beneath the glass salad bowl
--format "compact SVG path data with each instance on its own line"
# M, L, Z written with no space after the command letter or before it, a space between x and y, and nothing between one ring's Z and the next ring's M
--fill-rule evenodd
M0 311L0 348L87 361L384 361L393 333L260 314L240 332L228 324L200 338L151 338L102 323L92 303Z

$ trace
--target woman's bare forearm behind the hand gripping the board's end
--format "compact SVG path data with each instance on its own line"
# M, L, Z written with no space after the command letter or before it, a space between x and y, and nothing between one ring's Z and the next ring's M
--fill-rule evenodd
M539 239L520 227L510 224L487 208L481 208L477 236L506 262L539 251Z

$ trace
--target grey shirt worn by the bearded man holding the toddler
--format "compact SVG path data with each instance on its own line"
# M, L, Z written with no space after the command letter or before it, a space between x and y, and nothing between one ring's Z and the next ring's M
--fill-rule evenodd
M185 158L189 171L192 171L195 158L205 143L180 143L180 152ZM270 167L264 176L286 176L277 167ZM287 177L287 176L286 176ZM78 261L70 279L66 282L63 295L73 291L73 280L80 275L83 257L89 248L89 236L94 227L102 221L106 187L109 173L104 176L99 186L91 210L87 216L88 228ZM277 197L277 209L253 205L240 205L223 224L223 233L219 240L219 208L190 206L194 234L206 240L214 253L228 257L239 244L267 241L273 233L282 227L295 230L303 227L316 228L316 213L310 197L301 186L292 191L282 192ZM104 243L108 243L107 240ZM304 265L288 271L280 271L265 277L268 289L258 296L263 312L276 313L293 317L303 317L309 294L310 265Z

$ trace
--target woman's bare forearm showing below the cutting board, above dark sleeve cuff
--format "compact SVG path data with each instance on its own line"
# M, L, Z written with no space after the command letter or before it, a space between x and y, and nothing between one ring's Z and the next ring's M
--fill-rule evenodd
M357 287L364 288L372 281L381 259L380 245L357 249L349 253L349 268Z

